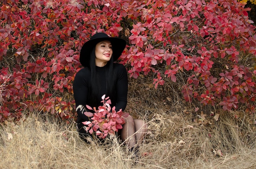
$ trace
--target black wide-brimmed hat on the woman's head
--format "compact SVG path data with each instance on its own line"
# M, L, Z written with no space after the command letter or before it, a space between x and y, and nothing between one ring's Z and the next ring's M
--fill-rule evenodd
M83 44L80 51L80 63L84 67L88 67L90 65L90 54L91 50L101 41L108 40L111 42L112 50L113 50L113 61L116 61L124 51L126 47L126 41L119 37L109 37L106 33L96 33L91 37L90 40Z

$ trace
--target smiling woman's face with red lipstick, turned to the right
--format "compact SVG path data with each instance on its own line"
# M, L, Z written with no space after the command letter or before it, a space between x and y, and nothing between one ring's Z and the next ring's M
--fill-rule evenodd
M101 41L95 46L95 64L96 66L105 66L112 57L112 45L108 40Z

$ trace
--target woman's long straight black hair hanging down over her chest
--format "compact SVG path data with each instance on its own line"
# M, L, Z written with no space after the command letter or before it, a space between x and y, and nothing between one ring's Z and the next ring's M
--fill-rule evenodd
M113 55L112 55L113 56ZM95 64L95 46L92 48L92 51L90 53L90 72L91 72L91 79L89 84L89 95L88 95L88 101L90 103L90 106L97 107L100 104L99 98L101 98L99 94L100 89L100 79L97 75L96 71L96 64ZM115 79L115 72L114 72L114 66L113 66L113 57L111 57L110 61L108 61L106 65L106 81L107 81L107 93L106 97L110 97L112 106L116 103L116 80Z

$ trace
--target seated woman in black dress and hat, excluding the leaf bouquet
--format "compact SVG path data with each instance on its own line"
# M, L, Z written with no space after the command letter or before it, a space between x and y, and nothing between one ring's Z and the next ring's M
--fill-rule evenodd
M90 105L98 108L102 105L101 96L106 94L115 110L125 110L127 104L128 78L122 64L113 63L122 54L126 41L117 37L108 37L105 33L96 33L85 42L80 52L80 63L84 67L77 72L73 90L76 107ZM89 121L80 109L77 109L77 127L79 135L86 140L90 134L84 129L83 121ZM143 140L146 124L140 119L128 116L120 132L122 141L132 151Z

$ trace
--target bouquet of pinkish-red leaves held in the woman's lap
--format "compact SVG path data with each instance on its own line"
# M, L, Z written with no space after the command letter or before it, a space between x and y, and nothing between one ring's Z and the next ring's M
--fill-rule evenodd
M111 101L109 97L105 98L104 94L101 99L102 106L99 106L98 110L94 107L93 109L86 105L88 110L93 110L92 112L84 112L85 116L90 117L91 121L82 122L85 126L85 130L92 134L96 132L96 135L99 138L106 138L108 134L115 134L118 129L122 129L122 124L125 123L124 117L127 117L128 114L123 113L120 109L118 112L110 107ZM80 105L79 105L80 106Z

